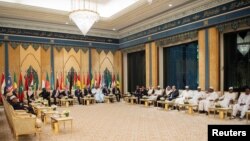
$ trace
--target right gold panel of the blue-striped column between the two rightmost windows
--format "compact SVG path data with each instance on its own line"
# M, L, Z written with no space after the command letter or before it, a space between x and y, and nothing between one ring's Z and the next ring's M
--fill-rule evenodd
M216 28L209 29L209 82L215 90L219 90L219 32Z

